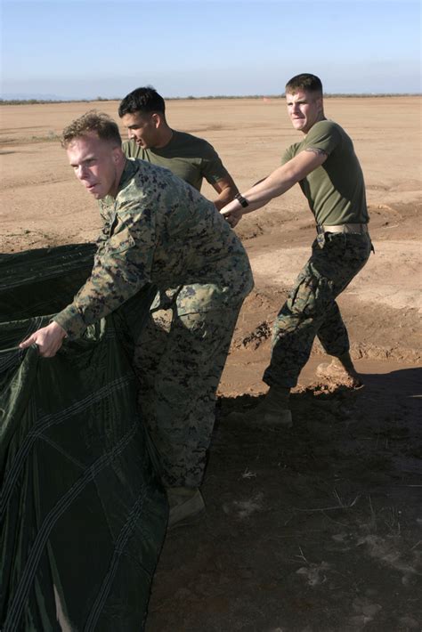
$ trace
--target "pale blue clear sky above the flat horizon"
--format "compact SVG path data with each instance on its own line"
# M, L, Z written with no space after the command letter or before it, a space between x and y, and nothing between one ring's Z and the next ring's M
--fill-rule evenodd
M0 0L0 98L420 93L420 0Z

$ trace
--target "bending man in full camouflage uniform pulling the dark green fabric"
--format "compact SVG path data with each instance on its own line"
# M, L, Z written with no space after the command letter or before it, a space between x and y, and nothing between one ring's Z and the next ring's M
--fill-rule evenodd
M100 201L93 271L73 303L21 344L52 357L65 336L116 310L146 284L169 292L174 320L156 368L152 416L170 524L203 507L199 485L215 392L240 306L253 287L248 255L214 204L167 169L127 160L116 123L88 112L62 135L77 178ZM178 288L173 296L171 288Z

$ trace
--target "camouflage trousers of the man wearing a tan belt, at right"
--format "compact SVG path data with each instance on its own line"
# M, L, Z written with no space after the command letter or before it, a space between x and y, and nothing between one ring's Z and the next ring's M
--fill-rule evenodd
M312 244L312 255L296 279L272 330L272 357L264 371L270 386L296 386L315 336L325 352L349 351L349 336L336 297L369 259L368 233L325 233Z

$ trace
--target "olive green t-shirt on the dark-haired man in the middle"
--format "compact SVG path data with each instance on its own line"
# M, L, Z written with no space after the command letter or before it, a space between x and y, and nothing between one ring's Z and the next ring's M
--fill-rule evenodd
M170 142L160 149L144 150L136 142L126 141L123 151L127 158L142 158L153 165L165 166L197 190L203 178L214 184L229 175L209 142L185 132L173 131Z

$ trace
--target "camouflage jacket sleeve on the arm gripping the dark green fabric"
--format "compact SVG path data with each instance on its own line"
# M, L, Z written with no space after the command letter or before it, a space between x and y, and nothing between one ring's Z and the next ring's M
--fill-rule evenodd
M122 205L113 235L102 242L91 276L55 320L69 338L114 312L150 282L155 247L155 215L148 207Z

